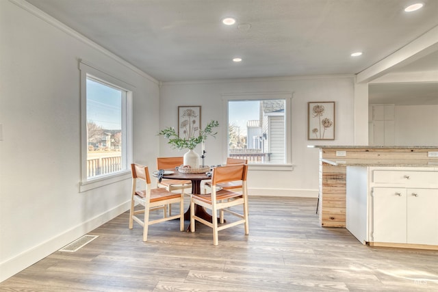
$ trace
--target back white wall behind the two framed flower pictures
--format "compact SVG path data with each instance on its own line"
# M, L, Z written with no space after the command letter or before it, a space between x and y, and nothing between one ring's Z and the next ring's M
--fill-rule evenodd
M249 168L248 188L253 195L318 196L319 152L307 145L353 145L354 143L354 78L308 77L240 79L228 81L167 82L160 90L159 125L177 127L178 105L201 105L201 124L218 120L216 139L205 143L207 165L224 163L226 135L223 127L224 103L222 94L259 92L292 92L292 163L293 171L252 170ZM335 140L307 140L307 102L336 102ZM368 118L368 116L366 116ZM368 131L363 133L368 139ZM185 151L172 150L160 137L159 154L183 155ZM200 153L201 149L197 149Z

